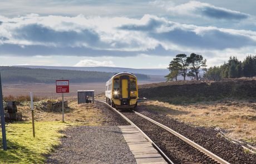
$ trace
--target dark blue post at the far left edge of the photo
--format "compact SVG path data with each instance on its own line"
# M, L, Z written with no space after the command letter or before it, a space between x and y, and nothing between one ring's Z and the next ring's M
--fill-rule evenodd
M1 73L0 73L0 114L1 114L3 150L6 151L6 150L7 150L7 142L6 142L6 122L4 121L3 93L2 93Z

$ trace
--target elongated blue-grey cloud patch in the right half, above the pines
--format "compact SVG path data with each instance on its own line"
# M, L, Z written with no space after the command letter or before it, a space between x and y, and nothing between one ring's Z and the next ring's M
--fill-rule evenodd
M173 44L177 44L181 47L194 47L201 49L225 49L256 46L256 41L249 36L224 32L216 28L196 32L195 29L175 27L169 31L151 33L151 36L161 41L168 41Z

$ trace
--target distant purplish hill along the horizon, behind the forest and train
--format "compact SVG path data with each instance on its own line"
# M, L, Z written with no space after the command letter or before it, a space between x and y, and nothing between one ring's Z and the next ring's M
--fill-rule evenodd
M169 73L169 70L166 69L135 69L135 68L121 68L121 67L61 67L61 66L14 66L14 67L23 67L23 68L45 68L45 69L67 69L67 70L76 70L76 71L97 71L97 72L131 72L131 73L140 73L147 75L158 75L165 76Z

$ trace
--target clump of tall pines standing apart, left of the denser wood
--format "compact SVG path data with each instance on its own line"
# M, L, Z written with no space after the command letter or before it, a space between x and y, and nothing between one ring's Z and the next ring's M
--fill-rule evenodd
M196 80L201 78L200 71L206 71L206 59L200 54L191 53L190 56L186 54L177 54L170 62L168 67L170 73L166 75L166 81L177 81L179 75L186 77L193 77Z

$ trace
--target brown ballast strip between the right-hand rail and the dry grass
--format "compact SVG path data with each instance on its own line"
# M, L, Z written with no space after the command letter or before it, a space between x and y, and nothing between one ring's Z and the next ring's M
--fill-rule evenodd
M172 128L174 131L184 135L230 163L253 164L256 161L256 155L245 153L241 146L232 143L223 137L218 137L218 132L213 128L192 127L157 113L143 110L139 110L139 112L142 115L150 117L153 120Z

